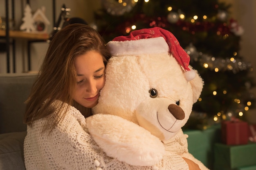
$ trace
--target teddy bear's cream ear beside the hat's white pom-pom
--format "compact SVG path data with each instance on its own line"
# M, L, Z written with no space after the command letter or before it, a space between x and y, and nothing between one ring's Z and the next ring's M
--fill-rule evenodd
M193 69L192 66L189 66L189 68L191 70ZM189 81L189 83L191 84L191 87L192 87L192 91L193 91L193 103L197 102L198 98L201 95L203 85L204 85L204 81L198 74L198 71L197 70L194 70L194 71L195 71L195 78L192 79L191 81Z

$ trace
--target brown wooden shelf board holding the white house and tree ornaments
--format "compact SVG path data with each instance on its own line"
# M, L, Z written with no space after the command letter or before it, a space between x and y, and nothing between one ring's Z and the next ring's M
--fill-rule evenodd
M0 30L0 36L4 37L6 35L5 30ZM48 40L49 35L47 33L27 33L24 31L9 31L10 38L23 38L27 40Z

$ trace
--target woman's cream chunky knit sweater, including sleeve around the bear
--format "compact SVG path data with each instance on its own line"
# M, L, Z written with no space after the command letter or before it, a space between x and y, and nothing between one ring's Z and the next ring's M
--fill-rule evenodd
M189 170L180 156L187 152L186 135L182 131L165 143L167 154L157 165L130 166L108 157L99 148L88 133L85 117L72 106L50 134L42 133L45 121L54 114L27 127L24 142L27 170Z

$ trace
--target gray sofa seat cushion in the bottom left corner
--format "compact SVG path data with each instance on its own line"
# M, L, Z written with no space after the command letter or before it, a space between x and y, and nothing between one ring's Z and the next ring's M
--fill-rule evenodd
M27 132L0 134L0 170L26 170L23 142Z

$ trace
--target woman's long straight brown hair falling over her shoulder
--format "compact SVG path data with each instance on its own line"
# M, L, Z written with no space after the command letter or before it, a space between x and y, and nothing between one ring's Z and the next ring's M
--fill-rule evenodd
M110 53L102 37L90 26L70 24L54 35L31 94L25 102L26 112L23 120L25 124L32 126L34 121L57 111L58 114L52 120L52 124L48 122L45 125L54 128L60 116L65 115L60 115L65 103L75 106L85 116L91 114L90 109L84 108L72 99L76 86L74 58L91 50L101 53L106 66ZM52 103L56 100L61 101L60 105L52 107Z

